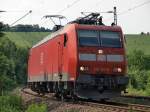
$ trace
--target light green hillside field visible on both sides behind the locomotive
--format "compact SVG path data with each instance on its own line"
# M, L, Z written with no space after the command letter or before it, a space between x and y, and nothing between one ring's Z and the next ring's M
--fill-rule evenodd
M49 32L6 32L6 36L20 47L31 47ZM150 35L125 35L127 44L127 54L133 50L142 50L145 54L150 55Z

